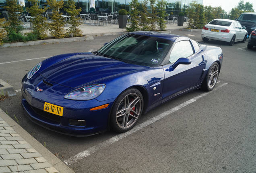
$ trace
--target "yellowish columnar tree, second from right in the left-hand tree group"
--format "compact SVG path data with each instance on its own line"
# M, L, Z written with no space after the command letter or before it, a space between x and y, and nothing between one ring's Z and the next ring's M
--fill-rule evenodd
M52 22L49 24L50 34L55 38L64 38L64 18L59 13L59 9L63 8L63 0L47 0L47 4L52 9Z

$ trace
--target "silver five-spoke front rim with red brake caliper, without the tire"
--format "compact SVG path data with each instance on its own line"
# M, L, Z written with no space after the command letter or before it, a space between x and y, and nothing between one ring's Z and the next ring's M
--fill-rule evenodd
M140 116L142 102L136 93L126 95L119 103L116 111L116 123L122 129L128 129Z

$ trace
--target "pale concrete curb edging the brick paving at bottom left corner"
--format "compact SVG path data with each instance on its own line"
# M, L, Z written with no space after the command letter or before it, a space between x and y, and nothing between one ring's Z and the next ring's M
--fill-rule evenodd
M27 131L25 131L18 123L16 123L12 118L10 118L2 109L0 109L0 113L2 115L2 119L14 131L18 132L18 134L27 141L38 153L40 153L53 167L55 167L60 173L74 173L72 169L70 169L65 163L63 163L58 157L52 154L48 149L46 149L41 143L39 143L34 137L32 137Z

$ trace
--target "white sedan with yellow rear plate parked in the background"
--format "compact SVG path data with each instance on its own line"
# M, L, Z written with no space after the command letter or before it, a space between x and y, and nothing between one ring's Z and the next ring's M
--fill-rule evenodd
M229 42L233 45L234 42L246 41L247 31L245 29L235 20L214 19L203 27L201 36L204 42L211 39Z

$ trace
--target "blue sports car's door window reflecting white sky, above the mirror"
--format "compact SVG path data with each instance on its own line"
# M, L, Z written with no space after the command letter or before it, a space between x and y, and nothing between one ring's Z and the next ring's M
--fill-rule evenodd
M191 47L190 41L180 41L175 43L173 49L171 50L169 63L174 63L179 58L187 58L192 55L193 49Z

